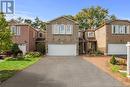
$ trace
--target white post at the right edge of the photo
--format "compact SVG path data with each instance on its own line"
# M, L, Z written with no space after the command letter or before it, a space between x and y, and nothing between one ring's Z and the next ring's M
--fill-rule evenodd
M130 42L127 42L127 77L130 78Z

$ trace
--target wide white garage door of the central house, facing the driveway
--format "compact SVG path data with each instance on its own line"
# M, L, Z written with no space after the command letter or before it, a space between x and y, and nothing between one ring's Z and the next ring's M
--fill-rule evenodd
M49 44L49 56L76 56L76 44Z

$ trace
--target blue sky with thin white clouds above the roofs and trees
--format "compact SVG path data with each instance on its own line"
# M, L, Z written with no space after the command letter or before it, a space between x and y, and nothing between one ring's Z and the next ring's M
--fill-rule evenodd
M39 17L49 21L63 15L75 15L91 6L101 6L118 19L130 20L130 0L15 0L15 14L7 15L7 19Z

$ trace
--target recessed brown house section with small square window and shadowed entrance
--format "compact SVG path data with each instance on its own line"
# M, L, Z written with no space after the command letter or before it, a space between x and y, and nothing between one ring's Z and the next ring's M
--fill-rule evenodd
M79 54L90 54L97 50L95 29L79 30Z

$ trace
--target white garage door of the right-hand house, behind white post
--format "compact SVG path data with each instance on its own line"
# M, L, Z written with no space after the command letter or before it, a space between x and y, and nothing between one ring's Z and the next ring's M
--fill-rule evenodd
M108 55L126 55L126 44L108 44Z

